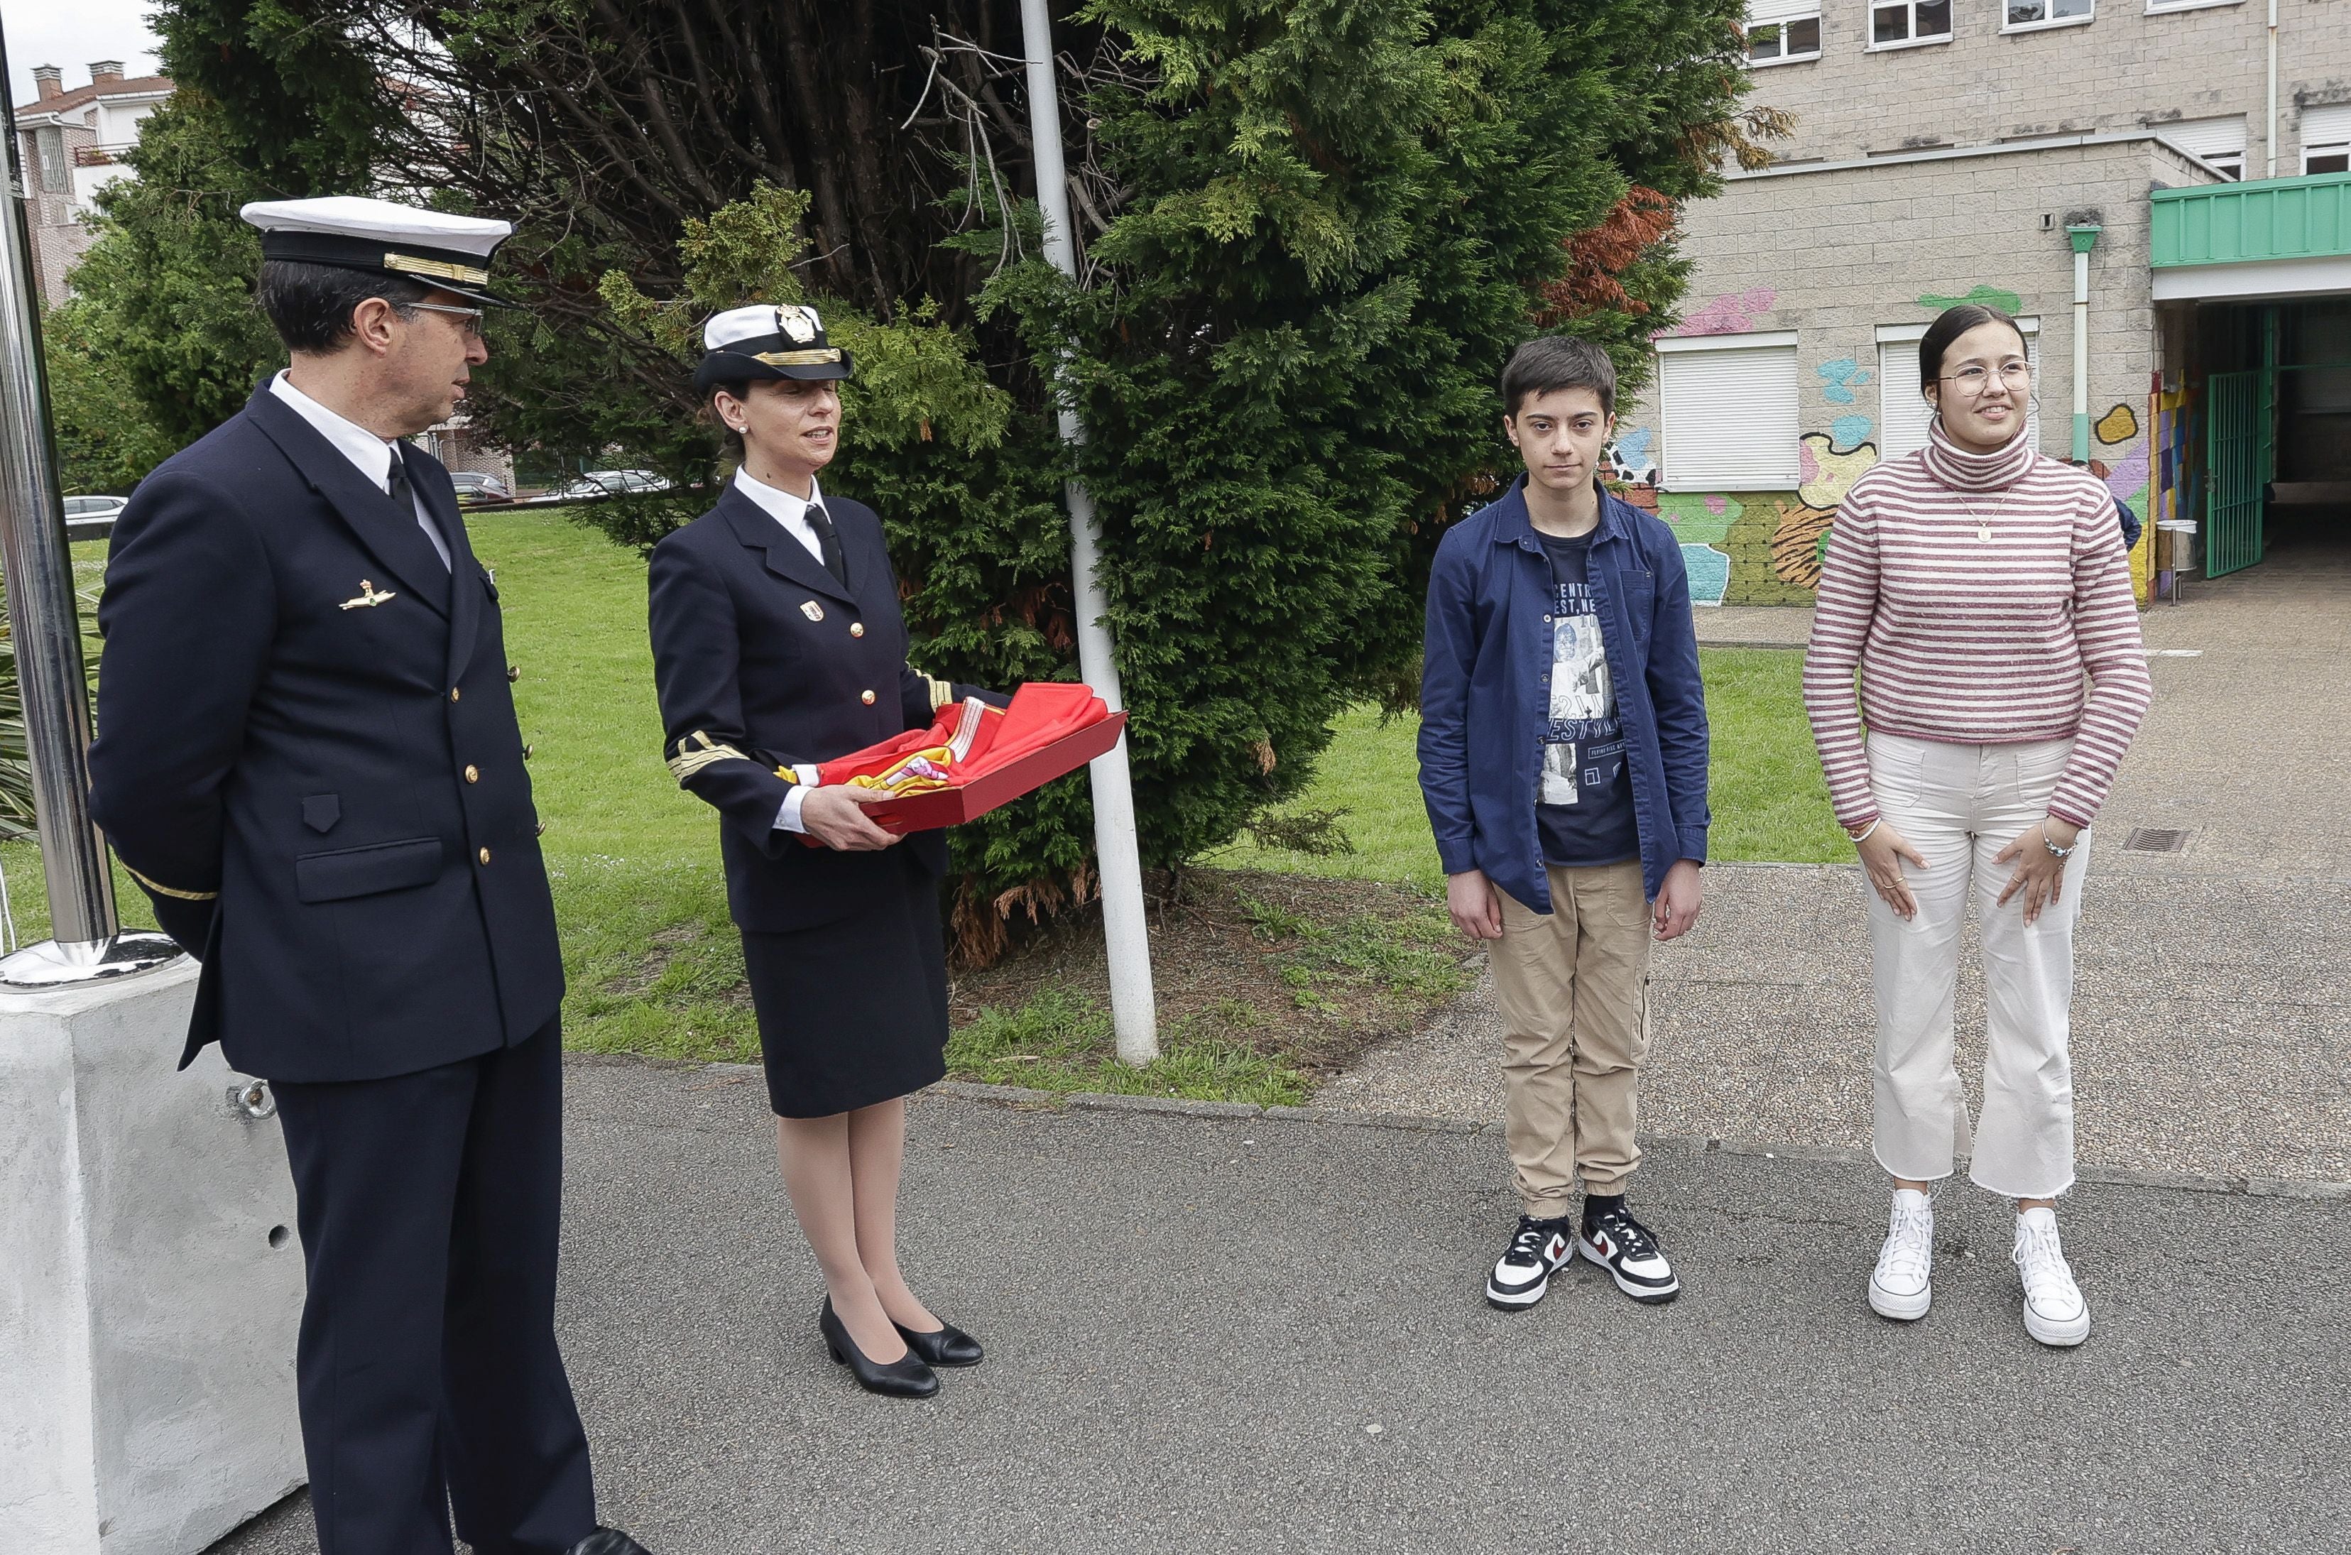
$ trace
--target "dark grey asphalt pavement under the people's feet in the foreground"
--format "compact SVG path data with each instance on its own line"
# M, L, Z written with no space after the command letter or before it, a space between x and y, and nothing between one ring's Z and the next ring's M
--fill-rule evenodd
M1951 1195L1935 1310L1862 1303L1874 1172L1660 1148L1688 1294L1483 1306L1491 1129L915 1108L905 1240L990 1343L907 1404L813 1329L755 1082L571 1068L564 1343L656 1555L2339 1550L2351 1204L2085 1186L2081 1350ZM2217 1256L2226 1252L2226 1261ZM310 1555L308 1508L216 1555Z

